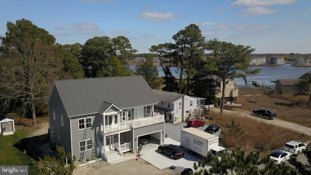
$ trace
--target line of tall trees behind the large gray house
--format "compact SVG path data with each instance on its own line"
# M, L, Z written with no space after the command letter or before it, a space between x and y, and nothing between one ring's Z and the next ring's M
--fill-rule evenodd
M196 24L190 24L172 38L174 43L153 45L147 59L131 70L128 60L137 50L128 38L95 36L85 44L55 43L48 31L37 27L30 20L7 22L5 36L0 36L0 108L14 109L25 116L31 114L36 125L36 113L46 109L45 101L53 80L70 78L95 78L106 76L142 75L151 88L196 95L216 102L215 80L217 75L225 86L230 80L259 73L248 70L250 46L235 45L218 39L206 41ZM204 53L211 56L205 56ZM164 76L152 66L151 55L157 55ZM171 72L178 67L178 76ZM162 86L163 85L163 86ZM223 103L221 103L221 112Z

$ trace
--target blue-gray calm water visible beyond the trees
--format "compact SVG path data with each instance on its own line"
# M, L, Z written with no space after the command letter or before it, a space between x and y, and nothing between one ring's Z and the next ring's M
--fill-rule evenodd
M134 70L134 66L130 66ZM250 77L247 76L247 81L256 80L257 82L264 85L274 85L270 81L275 81L276 79L298 79L304 73L311 71L311 67L295 67L291 64L285 64L282 66L250 66L249 70L261 69L260 73ZM159 76L164 76L163 70L160 66L157 67L159 70ZM178 68L171 68L173 74L178 76ZM244 85L244 81L240 78L234 80L237 85Z

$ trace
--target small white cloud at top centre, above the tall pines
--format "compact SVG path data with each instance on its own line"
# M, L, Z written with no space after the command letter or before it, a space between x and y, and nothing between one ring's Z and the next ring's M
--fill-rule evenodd
M138 18L147 19L150 22L164 22L167 19L176 19L179 17L173 13L145 12L139 15Z

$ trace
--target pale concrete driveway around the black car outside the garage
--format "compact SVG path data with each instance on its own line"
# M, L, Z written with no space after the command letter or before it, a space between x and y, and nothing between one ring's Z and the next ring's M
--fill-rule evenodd
M165 138L165 144L180 145L180 142L170 138ZM202 156L200 155L191 156L188 151L185 151L185 156L183 158L172 159L165 154L159 153L157 151L157 147L146 148L145 150L143 148L140 153L140 158L146 160L156 168L162 170L173 165L176 167L175 170L179 173L182 172L185 168L191 168L194 171L193 163L197 162L198 159L202 159Z

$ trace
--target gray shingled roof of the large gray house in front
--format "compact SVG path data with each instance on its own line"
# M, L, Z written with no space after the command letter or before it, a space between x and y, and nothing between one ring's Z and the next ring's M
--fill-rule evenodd
M55 80L52 88L57 89L68 117L103 113L111 105L125 109L160 103L141 75Z

